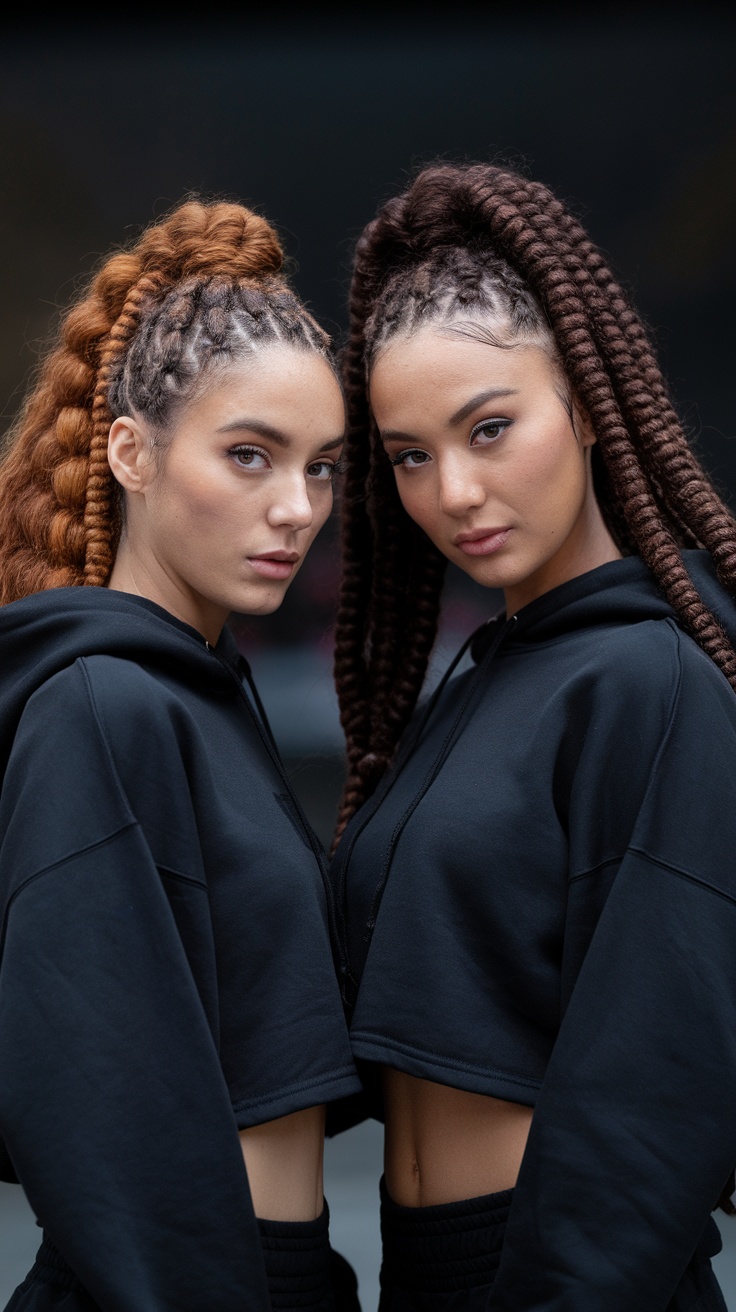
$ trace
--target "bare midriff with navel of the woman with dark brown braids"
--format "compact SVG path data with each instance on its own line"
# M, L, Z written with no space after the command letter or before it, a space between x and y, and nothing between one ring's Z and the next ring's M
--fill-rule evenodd
M383 1069L386 1187L401 1207L512 1189L531 1107Z

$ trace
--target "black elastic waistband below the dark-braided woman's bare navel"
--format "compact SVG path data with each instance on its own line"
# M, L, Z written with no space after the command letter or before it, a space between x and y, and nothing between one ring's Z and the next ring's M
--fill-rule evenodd
M416 1294L491 1284L499 1269L513 1190L438 1207L400 1207L380 1181L380 1279Z

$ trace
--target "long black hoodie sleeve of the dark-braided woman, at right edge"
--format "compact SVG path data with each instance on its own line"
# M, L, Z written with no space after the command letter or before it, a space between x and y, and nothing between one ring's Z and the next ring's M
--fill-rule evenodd
M627 850L571 882L581 960L489 1312L664 1312L736 1161L736 698L680 659Z

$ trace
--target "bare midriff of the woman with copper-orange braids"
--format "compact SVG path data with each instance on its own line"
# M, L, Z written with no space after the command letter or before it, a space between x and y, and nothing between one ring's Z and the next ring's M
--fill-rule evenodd
M324 1208L324 1107L240 1131L253 1211L261 1220L314 1221Z

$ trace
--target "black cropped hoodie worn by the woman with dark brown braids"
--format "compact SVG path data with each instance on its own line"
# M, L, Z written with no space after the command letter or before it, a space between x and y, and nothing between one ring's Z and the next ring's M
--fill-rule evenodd
M664 1312L736 1162L736 697L638 558L472 649L336 854L353 1051L534 1106L489 1312Z

